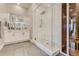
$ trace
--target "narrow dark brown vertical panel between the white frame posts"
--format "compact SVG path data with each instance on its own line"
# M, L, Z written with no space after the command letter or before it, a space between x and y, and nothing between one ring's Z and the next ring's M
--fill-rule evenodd
M62 52L67 53L67 4L62 4Z

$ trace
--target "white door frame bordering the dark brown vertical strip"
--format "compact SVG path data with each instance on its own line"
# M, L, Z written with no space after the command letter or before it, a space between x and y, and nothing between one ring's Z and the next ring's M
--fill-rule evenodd
M67 6L67 10L66 10L66 12L67 12L67 34L66 34L66 36L67 36L67 38L66 38L67 39L66 40L66 42L67 42L67 45L66 45L67 53L62 52L62 19L61 19L61 45L60 45L60 53L65 55L65 56L68 56L69 55L69 3L67 3L66 6ZM61 8L61 11L62 11L62 8ZM62 18L62 12L61 12L61 18Z

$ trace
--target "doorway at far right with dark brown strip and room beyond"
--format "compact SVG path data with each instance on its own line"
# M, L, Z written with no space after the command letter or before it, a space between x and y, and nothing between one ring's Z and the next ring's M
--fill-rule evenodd
M67 10L67 8L69 10ZM67 12L69 14L67 14ZM69 17L68 20L67 20L67 16ZM65 3L62 4L62 47L61 48L62 48L62 52L65 54L69 53L68 55L79 56L79 4L78 3L77 4L69 3L68 5Z

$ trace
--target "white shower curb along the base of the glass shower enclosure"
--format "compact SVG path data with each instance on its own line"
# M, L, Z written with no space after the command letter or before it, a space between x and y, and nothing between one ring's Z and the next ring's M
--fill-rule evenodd
M59 54L59 52L60 52L59 49L57 49L55 51L51 51L48 48L46 48L45 46L43 46L42 44L39 44L38 42L36 42L35 40L31 40L31 42L34 43L38 48L43 50L45 53L47 53L49 56L55 56L55 55Z

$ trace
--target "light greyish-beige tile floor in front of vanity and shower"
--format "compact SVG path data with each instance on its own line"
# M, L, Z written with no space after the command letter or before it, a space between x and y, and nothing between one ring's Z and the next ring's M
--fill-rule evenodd
M10 44L3 47L0 56L48 56L31 42Z

